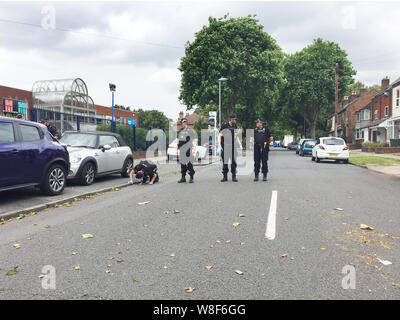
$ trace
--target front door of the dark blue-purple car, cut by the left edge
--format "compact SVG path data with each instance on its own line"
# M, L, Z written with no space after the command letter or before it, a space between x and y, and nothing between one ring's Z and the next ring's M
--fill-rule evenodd
M13 123L0 122L0 188L23 183L20 145Z

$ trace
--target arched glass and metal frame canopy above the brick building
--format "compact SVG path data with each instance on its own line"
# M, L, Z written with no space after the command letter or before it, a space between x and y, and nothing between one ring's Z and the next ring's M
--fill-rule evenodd
M96 113L85 82L80 79L39 80L32 86L33 105L39 109L72 114Z

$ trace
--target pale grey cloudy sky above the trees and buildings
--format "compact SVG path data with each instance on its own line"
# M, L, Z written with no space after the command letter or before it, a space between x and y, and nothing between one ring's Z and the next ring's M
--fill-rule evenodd
M256 14L287 53L317 37L339 43L367 85L400 77L400 2L0 1L0 85L80 77L96 104L110 105L112 82L116 103L176 118L184 45L225 13Z

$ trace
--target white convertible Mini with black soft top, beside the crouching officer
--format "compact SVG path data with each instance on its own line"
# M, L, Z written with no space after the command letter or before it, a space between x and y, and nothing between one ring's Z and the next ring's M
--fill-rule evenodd
M132 150L119 134L67 131L60 143L69 152L71 167L67 178L82 185L90 185L96 177L108 174L129 177L133 168Z

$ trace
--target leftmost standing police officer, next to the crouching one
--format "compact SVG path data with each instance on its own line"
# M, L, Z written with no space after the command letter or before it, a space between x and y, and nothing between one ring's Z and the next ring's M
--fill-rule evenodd
M197 134L188 128L187 119L181 120L182 128L178 131L179 163L181 164L182 177L178 183L186 182L186 172L189 171L189 183L193 183L195 171L193 169L194 152L197 145Z

